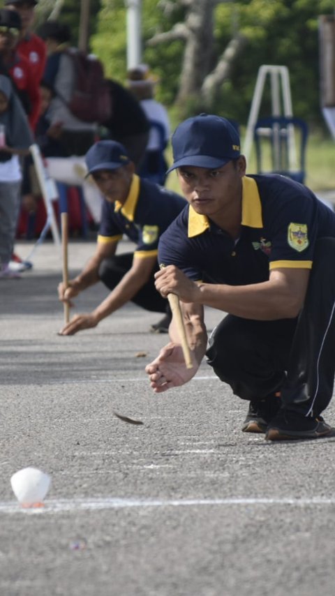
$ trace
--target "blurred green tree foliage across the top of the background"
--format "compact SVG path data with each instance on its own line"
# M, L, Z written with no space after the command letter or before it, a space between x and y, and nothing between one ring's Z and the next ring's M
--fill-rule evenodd
M50 0L40 0L43 8ZM54 0L52 0L54 3ZM67 22L77 42L79 0L64 0L60 20ZM142 61L158 75L158 98L175 103L179 90L185 44L181 39L149 45L159 33L183 24L187 0L142 0ZM241 33L244 50L234 58L211 109L246 122L262 64L288 66L294 113L308 122L321 124L318 17L334 13L334 0L225 0L214 13L212 66L230 40ZM126 2L91 0L91 50L101 58L109 77L126 81ZM269 113L269 89L262 109ZM189 98L188 111L198 110L197 98Z

